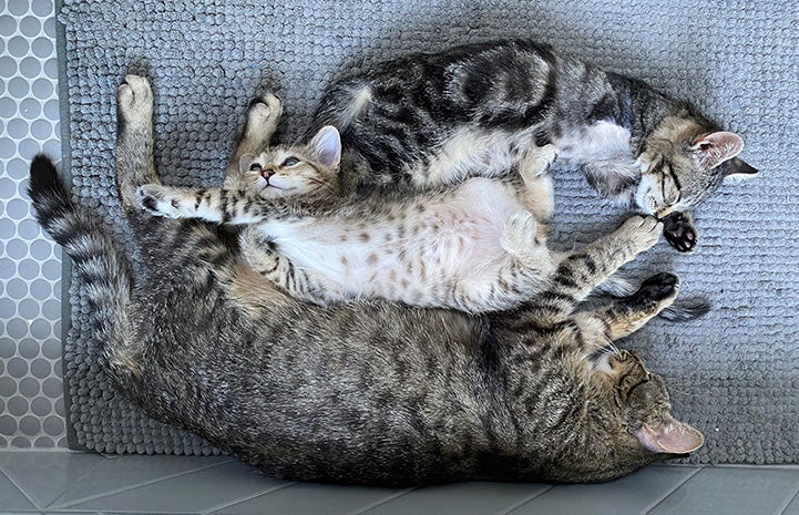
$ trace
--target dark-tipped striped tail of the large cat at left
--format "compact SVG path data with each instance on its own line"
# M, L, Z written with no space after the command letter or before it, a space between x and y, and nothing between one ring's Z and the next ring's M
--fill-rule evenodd
M31 162L28 194L37 219L72 258L78 279L86 286L93 329L106 364L113 372L130 377L133 370L126 359L131 353L126 333L132 276L127 257L102 224L75 205L52 161L43 154Z

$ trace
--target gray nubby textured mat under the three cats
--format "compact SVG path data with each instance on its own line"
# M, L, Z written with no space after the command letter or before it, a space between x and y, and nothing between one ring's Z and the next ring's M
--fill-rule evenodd
M345 71L410 51L532 38L690 99L747 142L756 178L725 184L695 213L699 246L665 243L631 270L675 270L713 311L655 320L622 342L663 373L677 414L707 443L693 460L799 463L799 2L66 1L71 173L80 200L123 234L113 190L114 93L129 71L154 82L156 165L165 182L218 184L248 101L285 102L283 140L301 131ZM555 171L553 240L582 245L623 210ZM642 277L643 279L643 277ZM106 452L207 453L201 439L148 420L94 364L80 284L64 347L73 444Z

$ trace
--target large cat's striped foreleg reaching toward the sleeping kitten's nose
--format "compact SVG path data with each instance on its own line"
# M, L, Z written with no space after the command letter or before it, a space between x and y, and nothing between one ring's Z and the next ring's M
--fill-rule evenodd
M622 265L653 247L662 233L663 224L653 216L627 218L614 233L563 259L549 290L531 303L542 318L562 320Z

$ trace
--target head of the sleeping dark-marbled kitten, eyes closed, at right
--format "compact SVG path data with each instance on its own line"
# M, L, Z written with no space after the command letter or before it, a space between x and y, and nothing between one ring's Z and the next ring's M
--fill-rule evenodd
M688 210L726 177L757 174L736 157L742 148L744 140L731 132L714 131L690 116L665 119L646 138L639 156L636 204L660 218Z

